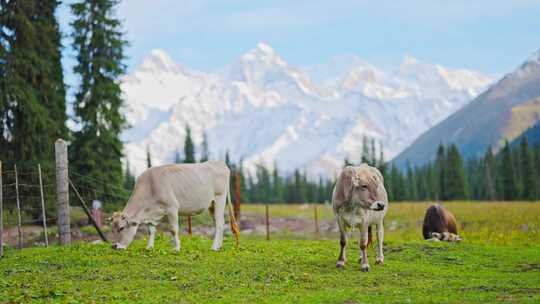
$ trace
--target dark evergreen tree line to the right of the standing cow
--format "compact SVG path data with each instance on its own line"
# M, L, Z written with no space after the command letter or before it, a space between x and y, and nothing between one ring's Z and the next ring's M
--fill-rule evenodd
M439 146L435 161L405 172L383 166L386 189L393 201L537 200L540 196L540 145L506 142L494 154L464 161L455 145Z

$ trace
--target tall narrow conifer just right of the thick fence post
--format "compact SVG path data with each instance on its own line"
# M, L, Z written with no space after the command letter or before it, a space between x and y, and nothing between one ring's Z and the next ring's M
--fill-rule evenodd
M119 136L127 125L120 112L119 85L125 72L126 41L121 22L113 16L117 4L114 0L85 0L71 5L74 72L81 79L74 112L81 129L75 132L70 151L76 171L116 187L122 186L123 179ZM94 187L112 192L105 183Z

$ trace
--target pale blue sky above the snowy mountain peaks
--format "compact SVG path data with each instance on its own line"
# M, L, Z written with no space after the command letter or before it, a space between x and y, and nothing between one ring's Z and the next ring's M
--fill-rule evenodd
M71 2L58 14L64 33ZM262 41L297 66L353 53L389 67L411 55L499 75L540 49L537 0L124 0L117 15L130 41L129 70L153 48L192 69L217 70ZM68 70L70 43L64 39Z

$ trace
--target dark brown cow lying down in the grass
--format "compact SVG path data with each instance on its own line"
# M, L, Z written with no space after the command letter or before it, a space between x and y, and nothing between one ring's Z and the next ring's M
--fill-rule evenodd
M439 204L431 205L427 209L422 234L424 239L429 241L461 241L457 233L456 219Z

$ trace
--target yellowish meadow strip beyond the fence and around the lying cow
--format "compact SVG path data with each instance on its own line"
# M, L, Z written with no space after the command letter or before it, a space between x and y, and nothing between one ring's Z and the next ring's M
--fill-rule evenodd
M386 238L396 241L418 241L424 213L432 203L391 203L385 217ZM446 202L458 221L459 234L468 243L526 245L540 243L540 203L533 202ZM271 204L270 216L313 220L313 206ZM264 205L245 204L242 212L265 213ZM332 220L330 205L318 206L319 218ZM312 235L307 235L312 237ZM335 235L331 235L336 238Z

